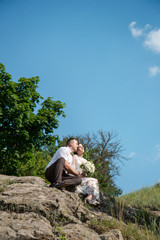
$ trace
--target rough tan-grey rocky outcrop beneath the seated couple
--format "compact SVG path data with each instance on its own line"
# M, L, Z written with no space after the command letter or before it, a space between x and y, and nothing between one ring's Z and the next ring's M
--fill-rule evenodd
M91 228L91 219L112 221L104 205L91 209L76 193L49 188L39 177L0 175L0 239L123 240L118 229L100 235Z

